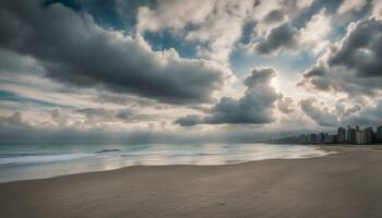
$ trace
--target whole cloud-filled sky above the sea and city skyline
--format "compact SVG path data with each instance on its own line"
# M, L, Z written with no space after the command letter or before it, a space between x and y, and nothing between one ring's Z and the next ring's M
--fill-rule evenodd
M0 142L382 124L381 0L0 2Z

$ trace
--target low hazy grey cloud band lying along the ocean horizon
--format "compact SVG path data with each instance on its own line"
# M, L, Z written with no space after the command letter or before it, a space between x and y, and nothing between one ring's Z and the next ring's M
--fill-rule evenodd
M321 129L320 129L321 130ZM198 144L198 143L253 143L262 140L278 138L307 132L315 132L318 129L295 128L287 130L270 131L264 129L253 130L222 130L212 132L198 131L107 131L104 129L77 130L65 128L28 128L10 126L0 122L1 143L55 143L81 144Z

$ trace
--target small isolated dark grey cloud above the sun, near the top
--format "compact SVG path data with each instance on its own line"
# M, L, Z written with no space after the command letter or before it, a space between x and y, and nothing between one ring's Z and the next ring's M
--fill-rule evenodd
M271 55L282 48L295 48L297 46L298 31L289 23L280 24L272 28L264 40L255 46L255 50L263 55Z

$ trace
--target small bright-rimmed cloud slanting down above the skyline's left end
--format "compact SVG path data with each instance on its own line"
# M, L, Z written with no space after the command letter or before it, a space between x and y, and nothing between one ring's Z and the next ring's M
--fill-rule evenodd
M335 126L337 125L336 113L322 107L315 98L303 99L299 102L301 110L319 125Z

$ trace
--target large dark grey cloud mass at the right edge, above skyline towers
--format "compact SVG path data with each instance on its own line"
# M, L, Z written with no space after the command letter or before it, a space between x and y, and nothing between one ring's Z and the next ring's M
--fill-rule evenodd
M303 74L299 85L354 96L377 96L382 89L382 21L368 19L349 27L339 45Z

